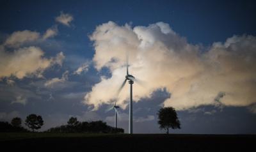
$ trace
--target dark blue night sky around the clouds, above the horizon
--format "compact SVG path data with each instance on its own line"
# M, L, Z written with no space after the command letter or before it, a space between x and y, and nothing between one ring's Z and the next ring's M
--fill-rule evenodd
M0 73L3 74L0 75L0 120L10 121L14 116L20 116L24 120L28 114L36 113L45 119L42 130L65 124L70 116L76 116L80 121L102 119L113 126L111 120L113 112L105 112L108 107L106 103L100 105L97 110L92 110L92 105L84 103L84 96L92 91L95 84L101 82L102 76L106 79L111 79L113 76L113 71L108 66L97 70L93 57L97 57L95 42L100 37L90 40L90 36L95 32L96 27L109 21L115 22L118 27L129 24L131 28L148 27L157 22L164 22L177 33L175 36L180 38L180 41L183 38L184 43L199 48L201 54L199 53L198 56L200 61L202 60L202 64L199 65L204 65L205 58L201 56L204 56L202 55L204 52L213 50L214 42L221 42L224 46L227 39L235 35L239 38L234 43L239 43L239 40L244 43L243 45L239 43L236 47L238 49L234 49L234 52L240 50L246 52L230 56L234 57L237 63L243 54L246 59L250 58L250 63L239 64L241 69L246 69L247 76L241 76L239 82L235 82L238 79L236 73L233 74L234 85L239 83L236 87L245 86L246 91L240 92L241 96L246 97L246 103L223 102L221 106L216 106L211 102L200 104L196 102L196 105L184 109L179 110L177 107L182 128L171 132L256 133L256 102L250 100L255 95L253 94L255 91L252 90L256 86L254 77L256 70L252 66L256 62L256 47L255 43L251 44L256 40L255 6L255 1L1 1ZM72 16L72 20L66 25L56 21L61 14ZM47 29L56 29L57 33L44 39ZM19 46L15 40L8 42L11 36L15 36L13 33L24 30L39 33L40 37L19 42ZM30 35L29 37L31 38ZM20 69L6 74L8 70L6 71L4 67L13 67L9 66L14 59L12 56L17 56L15 58L17 60L22 55L18 54L17 50L28 49L31 46L40 48L49 62L52 59L53 65L34 69L24 76L19 76ZM168 47L170 48L172 46ZM227 52L232 52L233 48L226 48ZM60 52L65 56L62 64L53 63L54 59L57 60L56 54ZM220 64L223 62L233 67L231 60L221 59ZM226 61L230 61L230 64ZM15 64L17 63L13 63ZM74 74L84 64L88 65L86 70ZM24 69L28 68L27 65L24 67ZM38 70L42 77L37 74L35 76ZM67 75L65 72L68 72ZM239 74L237 75L239 77ZM47 87L47 82L54 78L58 78L55 79L58 81L55 86ZM230 79L233 80L233 77ZM201 82L200 80L198 83ZM211 79L207 80L211 81ZM249 81L250 85L240 84L242 81ZM175 98L176 91L175 88L165 87L167 89L154 87L150 97L141 97L139 102L134 103L135 133L164 133L164 130L159 130L156 113L166 99L172 99L173 96ZM223 88L226 89L225 85ZM225 95L230 98L237 93L236 89L228 91L225 90ZM240 98L240 94L237 96ZM225 97L223 101L224 99ZM128 112L128 107L120 109L120 127L124 128L125 132L128 127Z

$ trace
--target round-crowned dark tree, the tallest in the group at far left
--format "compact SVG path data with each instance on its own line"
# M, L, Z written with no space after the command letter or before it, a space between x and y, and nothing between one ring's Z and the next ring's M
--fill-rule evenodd
M27 116L25 125L31 128L34 132L34 130L38 130L41 128L42 125L44 125L44 120L41 116L36 116L36 114L29 114Z

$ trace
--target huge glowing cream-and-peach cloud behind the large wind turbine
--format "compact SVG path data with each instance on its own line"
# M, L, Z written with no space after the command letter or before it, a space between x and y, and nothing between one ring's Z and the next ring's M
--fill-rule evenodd
M177 110L256 102L255 36L232 36L202 51L163 22L133 28L108 22L98 26L90 40L95 47L95 68L106 67L111 72L111 77L101 77L84 96L84 103L95 109L116 98L121 107L127 105L128 84L116 96L125 79L125 54L129 54L129 72L145 82L145 86L134 83L134 102L150 97L159 88L171 93L164 106Z

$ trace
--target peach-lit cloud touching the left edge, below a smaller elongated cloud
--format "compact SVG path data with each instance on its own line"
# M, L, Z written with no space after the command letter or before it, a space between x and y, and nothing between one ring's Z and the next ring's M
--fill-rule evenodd
M62 52L60 53L62 54ZM0 50L0 79L3 77L17 77L22 79L34 75L42 77L45 69L56 64L57 58L46 58L44 51L39 47L23 47L13 52L7 52L4 49ZM63 56L63 54L62 54ZM57 63L60 63L58 61Z

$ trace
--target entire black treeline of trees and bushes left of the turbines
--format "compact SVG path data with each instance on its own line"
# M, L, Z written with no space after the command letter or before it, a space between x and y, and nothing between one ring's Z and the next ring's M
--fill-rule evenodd
M42 116L36 114L29 114L24 125L28 126L33 132L44 125ZM13 118L11 123L0 121L0 132L31 132L22 126L22 119L17 117ZM79 122L77 118L70 118L67 125L61 125L50 128L45 132L53 133L124 133L123 128L114 128L108 126L103 121Z

